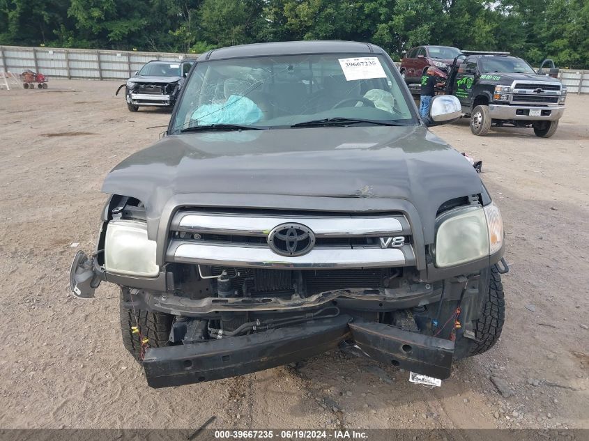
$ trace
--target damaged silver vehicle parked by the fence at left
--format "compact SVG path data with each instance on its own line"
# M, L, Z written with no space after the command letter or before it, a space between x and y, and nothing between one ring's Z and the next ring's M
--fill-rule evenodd
M174 107L192 64L194 60L178 63L150 61L135 72L126 84L121 84L115 95L125 88L125 101L130 111L139 110L139 106Z

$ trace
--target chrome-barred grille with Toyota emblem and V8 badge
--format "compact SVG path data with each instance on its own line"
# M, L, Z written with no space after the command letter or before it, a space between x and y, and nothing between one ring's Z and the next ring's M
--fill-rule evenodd
M306 254L277 254L270 231L300 224L315 236ZM381 238L402 238L383 247ZM272 237L270 235L270 240ZM397 212L378 214L181 210L174 215L167 261L236 268L390 268L415 264L411 228ZM392 243L392 242L388 242Z

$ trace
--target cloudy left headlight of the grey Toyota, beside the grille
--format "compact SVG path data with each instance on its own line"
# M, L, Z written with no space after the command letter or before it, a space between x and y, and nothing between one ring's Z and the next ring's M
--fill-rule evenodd
M147 238L144 222L113 220L107 225L105 269L116 274L155 277L155 241Z

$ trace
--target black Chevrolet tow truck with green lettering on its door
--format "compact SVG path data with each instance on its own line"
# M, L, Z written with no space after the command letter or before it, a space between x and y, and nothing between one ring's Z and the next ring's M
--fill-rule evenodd
M563 116L567 88L508 52L463 52L454 59L445 93L460 100L473 134L512 125L548 138Z

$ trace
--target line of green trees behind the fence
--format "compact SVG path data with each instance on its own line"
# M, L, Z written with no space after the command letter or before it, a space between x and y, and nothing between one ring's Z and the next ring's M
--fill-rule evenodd
M0 0L0 45L201 53L280 40L424 44L589 67L588 0Z

